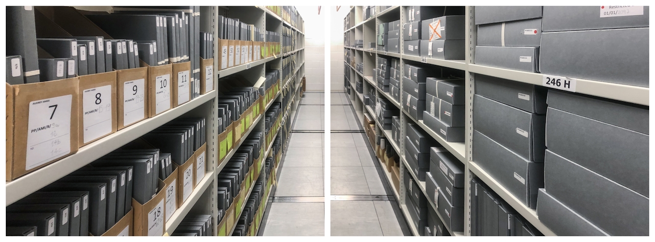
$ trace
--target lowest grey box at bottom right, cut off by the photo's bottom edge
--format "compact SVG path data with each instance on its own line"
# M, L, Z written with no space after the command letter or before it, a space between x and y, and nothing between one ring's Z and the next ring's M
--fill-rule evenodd
M559 236L609 236L605 231L578 215L544 188L539 189L536 215L553 233Z

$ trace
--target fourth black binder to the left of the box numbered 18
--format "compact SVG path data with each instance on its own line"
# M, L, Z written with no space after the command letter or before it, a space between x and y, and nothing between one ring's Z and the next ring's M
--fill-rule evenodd
M89 208L89 232L94 236L100 236L105 233L107 216L107 199L102 198L104 191L105 197L107 184L101 182L55 182L45 188L45 192L88 192Z

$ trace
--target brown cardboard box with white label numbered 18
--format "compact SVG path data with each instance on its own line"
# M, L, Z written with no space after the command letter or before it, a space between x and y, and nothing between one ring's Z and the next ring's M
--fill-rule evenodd
M145 204L141 204L132 198L132 210L134 211L134 236L161 236L164 235L164 217L166 206L164 196L166 184L159 181L159 192L155 197Z

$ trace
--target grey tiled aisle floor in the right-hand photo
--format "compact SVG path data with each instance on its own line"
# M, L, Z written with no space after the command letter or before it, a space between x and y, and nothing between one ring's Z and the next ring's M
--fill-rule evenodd
M331 235L409 235L348 97L331 95Z

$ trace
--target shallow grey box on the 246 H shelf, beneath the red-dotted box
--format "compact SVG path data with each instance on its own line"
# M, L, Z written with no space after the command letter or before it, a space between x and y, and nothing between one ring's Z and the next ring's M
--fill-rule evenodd
M475 61L478 65L538 73L539 47L476 46Z

